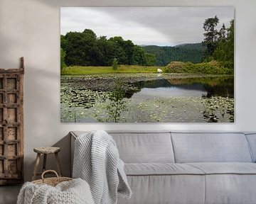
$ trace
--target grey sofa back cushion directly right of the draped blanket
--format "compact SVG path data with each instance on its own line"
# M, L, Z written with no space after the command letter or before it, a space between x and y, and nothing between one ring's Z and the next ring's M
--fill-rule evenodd
M174 163L170 132L109 132L125 163Z

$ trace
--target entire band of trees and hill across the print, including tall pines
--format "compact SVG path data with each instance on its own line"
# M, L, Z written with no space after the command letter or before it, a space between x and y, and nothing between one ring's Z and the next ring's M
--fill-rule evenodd
M230 28L224 24L217 29L219 18L207 18L203 23L204 40L201 43L181 44L174 47L134 45L120 36L107 39L97 37L90 29L60 35L61 67L112 66L113 62L127 65L166 66L170 62L211 62L234 67L234 20Z

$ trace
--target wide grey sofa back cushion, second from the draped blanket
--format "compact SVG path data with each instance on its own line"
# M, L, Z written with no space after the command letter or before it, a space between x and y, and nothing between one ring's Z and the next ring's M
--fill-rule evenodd
M243 133L171 132L177 163L252 162Z

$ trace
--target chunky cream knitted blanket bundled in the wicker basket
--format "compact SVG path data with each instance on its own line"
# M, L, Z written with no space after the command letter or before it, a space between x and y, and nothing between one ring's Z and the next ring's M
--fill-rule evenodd
M17 204L94 204L90 186L82 179L63 181L57 186L26 182L18 194Z

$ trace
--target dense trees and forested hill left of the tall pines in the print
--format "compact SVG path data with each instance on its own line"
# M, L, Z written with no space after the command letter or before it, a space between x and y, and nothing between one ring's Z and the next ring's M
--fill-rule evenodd
M166 66L172 61L201 62L201 43L160 47L156 45L134 45L132 40L120 36L107 39L89 29L82 33L69 32L60 36L62 62L67 66L111 66L114 59L118 64ZM65 58L65 59L64 59Z

